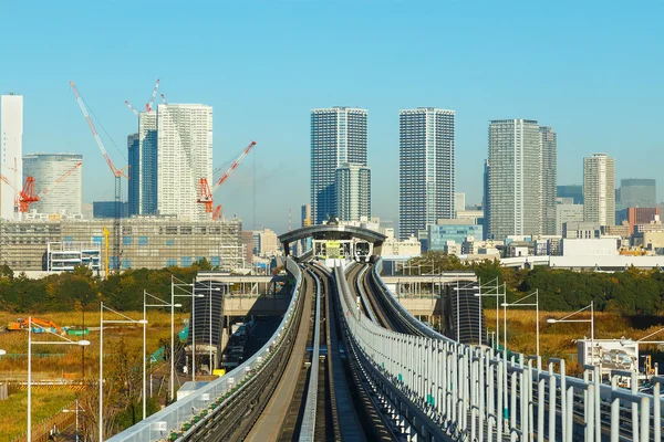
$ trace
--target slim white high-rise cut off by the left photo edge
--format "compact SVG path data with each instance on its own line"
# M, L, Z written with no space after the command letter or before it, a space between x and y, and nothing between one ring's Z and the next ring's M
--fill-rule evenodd
M14 218L18 192L23 187L23 96L0 95L0 219Z

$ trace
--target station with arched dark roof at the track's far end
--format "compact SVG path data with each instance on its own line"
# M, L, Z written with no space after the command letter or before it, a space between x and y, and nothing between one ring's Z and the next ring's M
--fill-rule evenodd
M349 259L369 261L378 256L383 242L387 239L382 233L353 225L329 221L326 224L301 228L279 235L286 254L290 244L305 238L313 239L313 256L321 260Z

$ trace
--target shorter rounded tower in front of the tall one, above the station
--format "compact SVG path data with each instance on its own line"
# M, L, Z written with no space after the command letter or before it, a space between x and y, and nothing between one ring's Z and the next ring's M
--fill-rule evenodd
M335 171L336 217L341 221L371 218L371 170L369 167L343 162Z

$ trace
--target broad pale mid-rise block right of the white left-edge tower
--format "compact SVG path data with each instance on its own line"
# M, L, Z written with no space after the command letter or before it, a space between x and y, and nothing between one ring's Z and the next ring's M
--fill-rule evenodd
M38 213L82 214L83 156L31 154L23 157L23 173L34 178L39 201L30 204Z

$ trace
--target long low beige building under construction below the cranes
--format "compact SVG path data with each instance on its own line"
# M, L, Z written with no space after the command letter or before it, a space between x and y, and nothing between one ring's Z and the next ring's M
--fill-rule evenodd
M136 217L124 220L121 232L120 263L113 248L106 246L104 228L111 230L112 220L32 219L0 221L0 264L14 272L40 272L53 269L50 243L62 243L58 250L74 252L76 244L96 245L101 262L110 267L163 269L190 266L206 259L220 270L245 267L245 245L239 219L224 221L183 221L176 217ZM111 232L108 243L114 244ZM64 248L64 249L63 249ZM83 250L81 252L84 252ZM85 253L82 253L85 255ZM56 267L58 265L55 265ZM103 267L103 266L102 266Z

